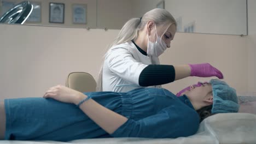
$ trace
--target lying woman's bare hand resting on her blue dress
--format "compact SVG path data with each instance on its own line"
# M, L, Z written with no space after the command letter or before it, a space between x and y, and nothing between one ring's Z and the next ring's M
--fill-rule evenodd
M44 94L43 98L53 98L63 103L76 104L77 100L83 96L86 97L83 93L75 91L74 89L57 85L49 88L49 90Z

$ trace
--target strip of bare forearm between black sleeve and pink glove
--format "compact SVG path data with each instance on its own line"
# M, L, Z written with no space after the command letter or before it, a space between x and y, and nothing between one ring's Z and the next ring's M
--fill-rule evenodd
M190 76L191 69L188 64L173 65L173 67L175 69L175 81Z

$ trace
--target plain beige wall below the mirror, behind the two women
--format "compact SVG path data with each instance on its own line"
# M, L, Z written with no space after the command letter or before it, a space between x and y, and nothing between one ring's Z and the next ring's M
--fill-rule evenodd
M0 25L0 99L42 97L65 85L68 73L87 71L97 79L107 45L118 30ZM247 92L247 37L177 33L162 64L210 62L237 92ZM198 80L190 77L164 87L176 93Z

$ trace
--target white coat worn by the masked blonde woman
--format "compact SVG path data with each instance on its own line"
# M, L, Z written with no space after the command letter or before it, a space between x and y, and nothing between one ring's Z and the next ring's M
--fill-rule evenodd
M159 64L159 58L143 55L132 41L111 47L104 59L102 91L128 92L141 88L139 75L149 64Z

